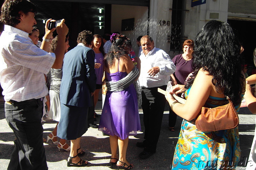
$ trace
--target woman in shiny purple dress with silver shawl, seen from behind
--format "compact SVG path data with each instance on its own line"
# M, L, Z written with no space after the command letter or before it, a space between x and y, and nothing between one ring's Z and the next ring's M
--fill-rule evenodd
M128 54L131 51L131 41L124 35L115 35L110 52L105 57L106 84L118 83L132 77L133 82L139 77L140 59L135 58L137 68L134 68ZM133 71L136 76L130 76ZM134 78L135 77L135 78ZM118 81L118 82L117 82ZM127 80L129 81L129 79ZM127 84L124 81L123 84ZM129 136L137 134L140 129L140 117L138 110L137 94L133 84L128 87L118 86L116 90L108 87L105 103L100 118L99 130L109 134L111 147L111 166L132 169L133 165L126 160L126 150ZM119 148L119 157L117 156Z

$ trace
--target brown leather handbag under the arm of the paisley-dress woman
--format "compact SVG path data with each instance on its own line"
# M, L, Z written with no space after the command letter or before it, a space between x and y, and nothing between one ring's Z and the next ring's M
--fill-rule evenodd
M238 115L232 101L215 108L202 107L201 113L196 119L196 128L200 131L215 131L235 128L238 123Z

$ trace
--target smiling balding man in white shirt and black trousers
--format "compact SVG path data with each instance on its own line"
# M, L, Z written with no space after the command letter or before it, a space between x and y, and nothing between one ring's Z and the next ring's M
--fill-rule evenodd
M154 46L154 41L148 35L140 40L142 53L140 55L140 87L142 88L143 122L145 126L144 141L136 146L143 147L139 154L141 159L150 157L156 152L160 135L166 99L157 92L157 88L166 90L170 75L176 67L169 55Z

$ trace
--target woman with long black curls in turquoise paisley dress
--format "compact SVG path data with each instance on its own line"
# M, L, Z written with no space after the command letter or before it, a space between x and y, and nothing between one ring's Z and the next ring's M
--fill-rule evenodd
M176 103L174 86L166 96L172 110L184 120L175 148L172 170L235 169L240 159L238 127L202 132L195 121L201 108L217 107L232 100L239 109L245 91L240 48L227 22L209 21L196 35L193 76L186 84L186 103Z

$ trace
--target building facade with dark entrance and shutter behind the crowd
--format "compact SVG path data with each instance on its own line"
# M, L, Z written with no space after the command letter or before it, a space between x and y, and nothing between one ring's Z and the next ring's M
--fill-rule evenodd
M202 3L193 6L193 2ZM32 0L38 6L37 26L44 33L48 18L66 19L71 46L84 29L94 34L119 32L132 40L138 54L136 38L149 35L155 46L170 56L182 53L182 43L194 40L209 20L228 21L235 29L246 57L256 47L253 28L256 22L255 0ZM242 26L242 28L240 28ZM246 58L245 57L245 58Z

